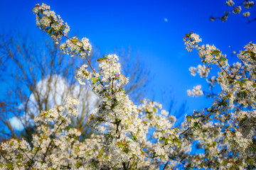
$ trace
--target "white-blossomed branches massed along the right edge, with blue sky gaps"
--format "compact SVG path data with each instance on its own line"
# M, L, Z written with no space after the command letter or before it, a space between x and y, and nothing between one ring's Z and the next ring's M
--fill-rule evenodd
M226 55L214 45L200 45L198 35L189 33L184 41L187 50L196 48L202 59L203 66L189 69L193 76L197 71L201 77L207 78L214 66L220 69L218 76L206 79L211 91L215 84L221 87L218 94L206 94L214 98L212 106L186 116L188 125L184 135L203 150L202 154L194 157L191 166L255 169L256 45L252 42L245 45L245 50L238 54L240 62L230 65ZM201 95L203 91L200 85L192 91L188 90L188 96Z

